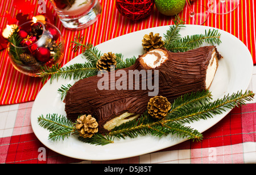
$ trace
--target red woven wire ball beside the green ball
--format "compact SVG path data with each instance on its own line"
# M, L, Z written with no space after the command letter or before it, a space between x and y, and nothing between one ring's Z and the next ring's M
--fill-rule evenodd
M154 0L116 0L117 10L126 18L140 20L150 15Z

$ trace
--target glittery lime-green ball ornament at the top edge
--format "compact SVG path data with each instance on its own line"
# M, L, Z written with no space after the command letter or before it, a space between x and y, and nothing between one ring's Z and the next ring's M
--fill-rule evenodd
M173 16L181 12L186 0L155 0L156 9L163 15Z

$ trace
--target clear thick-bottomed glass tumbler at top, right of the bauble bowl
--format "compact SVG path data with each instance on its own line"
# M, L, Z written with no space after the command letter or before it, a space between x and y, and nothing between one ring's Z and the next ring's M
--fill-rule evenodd
M98 0L50 0L65 28L81 30L92 25L101 14Z

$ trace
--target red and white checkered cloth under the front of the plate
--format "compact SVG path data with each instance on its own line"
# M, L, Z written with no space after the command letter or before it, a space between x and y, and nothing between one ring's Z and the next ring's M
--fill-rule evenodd
M0 163L256 163L256 103L236 107L191 140L147 155L111 161L78 160L46 148L34 135L30 113L34 102L0 107Z

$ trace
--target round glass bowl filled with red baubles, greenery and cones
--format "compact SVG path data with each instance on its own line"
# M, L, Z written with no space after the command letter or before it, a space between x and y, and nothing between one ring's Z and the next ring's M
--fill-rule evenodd
M37 77L42 72L42 66L60 64L64 47L63 36L51 23L29 21L10 36L8 53L16 70Z

